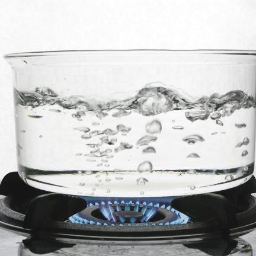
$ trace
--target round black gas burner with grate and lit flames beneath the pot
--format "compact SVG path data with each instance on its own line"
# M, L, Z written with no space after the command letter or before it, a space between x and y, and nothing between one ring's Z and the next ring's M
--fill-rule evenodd
M256 198L252 193L256 193L254 177L239 187L215 193L159 197L153 201L103 200L38 190L21 181L17 172L11 172L0 185L0 194L5 196L0 200L0 226L23 235L33 233L63 241L184 244L254 230ZM85 220L93 223L85 225Z

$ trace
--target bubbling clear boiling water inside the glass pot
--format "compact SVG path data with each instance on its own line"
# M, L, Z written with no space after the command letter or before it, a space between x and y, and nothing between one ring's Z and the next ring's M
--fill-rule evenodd
M106 99L37 87L15 89L15 108L19 173L43 190L178 196L234 187L254 170L255 98L243 91L192 99L156 82Z

